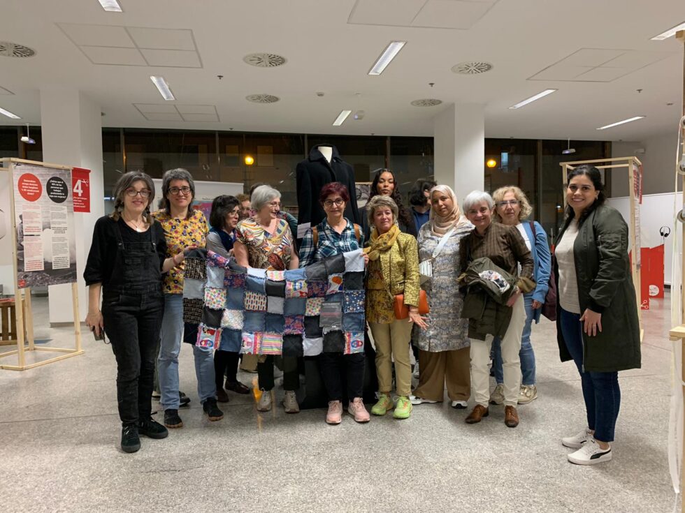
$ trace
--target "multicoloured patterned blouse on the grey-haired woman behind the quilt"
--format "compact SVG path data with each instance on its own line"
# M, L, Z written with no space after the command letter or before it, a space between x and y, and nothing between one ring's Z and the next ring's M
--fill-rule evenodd
M236 240L247 248L250 267L268 271L285 271L290 264L293 237L288 222L279 219L273 234L255 221L243 219L236 227Z

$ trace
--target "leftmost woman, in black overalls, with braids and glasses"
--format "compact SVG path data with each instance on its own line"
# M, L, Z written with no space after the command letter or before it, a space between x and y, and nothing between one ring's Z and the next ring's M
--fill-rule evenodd
M139 435L166 438L152 420L152 380L164 313L161 275L183 261L164 258L166 241L150 216L152 179L127 172L114 188L115 209L95 223L83 276L88 292L86 323L96 336L105 332L117 359L117 400L124 452L140 449ZM102 311L100 290L102 289Z

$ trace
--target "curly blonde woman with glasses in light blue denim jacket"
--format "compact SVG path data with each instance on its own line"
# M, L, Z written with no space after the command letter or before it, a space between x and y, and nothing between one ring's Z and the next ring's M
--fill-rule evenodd
M519 389L519 404L527 404L538 399L538 387L535 386L535 352L531 345L531 327L540 322L542 305L545 304L545 296L549 286L549 272L551 270L551 258L547 234L537 221L526 221L533 211L528 198L517 186L500 187L493 194L495 211L493 218L498 223L515 226L521 237L526 242L526 247L533 255L533 276L535 277L535 290L524 294L524 308L526 308L526 323L521 335L521 387ZM500 339L492 342L493 368L497 385L490 394L491 404L504 402L504 375L502 371L502 349Z

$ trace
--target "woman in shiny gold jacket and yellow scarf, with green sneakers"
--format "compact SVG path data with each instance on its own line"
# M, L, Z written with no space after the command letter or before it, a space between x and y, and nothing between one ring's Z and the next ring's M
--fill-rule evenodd
M409 342L412 325L426 327L419 315L419 251L412 235L402 233L397 225L398 208L388 196L377 195L366 204L372 226L366 276L366 320L376 347L376 373L379 398L371 408L373 415L385 415L395 408L396 419L411 415L409 400L412 368ZM404 295L409 318L395 318L395 296ZM392 359L395 360L397 405L391 399Z

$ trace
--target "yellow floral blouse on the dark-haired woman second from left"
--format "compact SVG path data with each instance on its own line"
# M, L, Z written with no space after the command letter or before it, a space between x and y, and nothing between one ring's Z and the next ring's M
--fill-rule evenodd
M166 258L173 257L188 246L205 247L209 225L201 210L193 210L189 219L171 217L164 210L153 212L152 217L157 219L161 228L164 229ZM165 294L183 293L183 269L185 269L185 265L181 264L180 267L172 267L171 271L166 274L164 278Z

